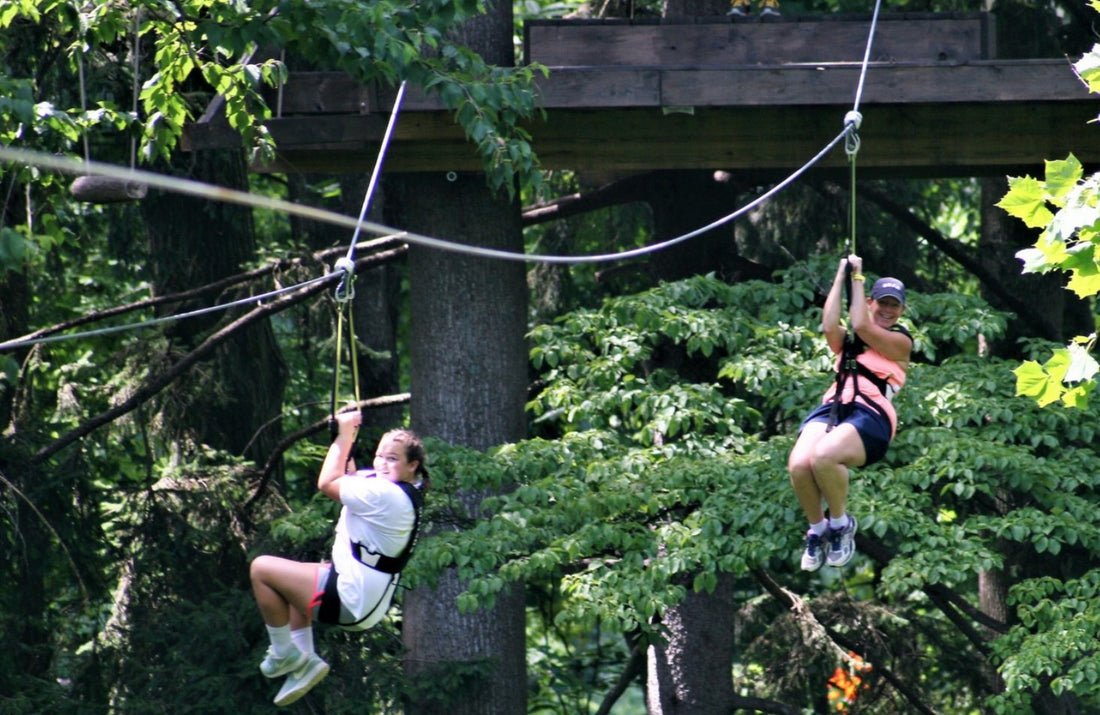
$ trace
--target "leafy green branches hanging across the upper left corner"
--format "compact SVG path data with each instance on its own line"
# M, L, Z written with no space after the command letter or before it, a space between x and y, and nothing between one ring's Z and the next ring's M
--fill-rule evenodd
M31 75L6 69L0 88L11 91L3 92L10 99L0 105L0 135L26 143L40 133L53 133L57 136L52 144L72 146L81 132L122 129L140 132L141 154L152 161L167 157L184 125L197 120L218 95L244 145L270 157L274 143L264 120L272 109L263 87L283 85L287 72L283 61L262 58L256 51L277 47L363 82L408 81L437 94L476 146L490 185L510 194L517 183L540 178L530 136L520 125L535 113L532 80L538 68L487 65L450 38L455 28L481 12L483 7L473 0L187 0L170 9L152 1L6 3L0 34L31 36L36 34L32 30L45 30L37 34L48 52L62 55L70 78L84 72L78 63L86 54L89 70L106 73L116 72L120 59L132 59L127 55L134 52L138 37L152 41L152 47L139 58L138 72L143 74L132 77L130 94L141 86L138 116L111 99L96 100L94 110L66 109Z

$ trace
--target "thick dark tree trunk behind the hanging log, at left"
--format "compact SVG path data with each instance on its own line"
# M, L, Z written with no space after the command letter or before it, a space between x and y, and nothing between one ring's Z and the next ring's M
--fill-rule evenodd
M188 178L242 189L248 186L238 152L197 152ZM170 294L240 273L255 255L250 209L188 196L150 191L142 213L157 294ZM224 300L242 296L227 296ZM205 307L175 306L174 311ZM210 314L170 323L168 339L186 350L218 320ZM167 413L178 443L204 443L263 462L278 437L286 366L267 322L242 331L213 362L193 373ZM274 421L273 421L274 420ZM266 429L260 429L267 426ZM257 431L260 429L260 431Z

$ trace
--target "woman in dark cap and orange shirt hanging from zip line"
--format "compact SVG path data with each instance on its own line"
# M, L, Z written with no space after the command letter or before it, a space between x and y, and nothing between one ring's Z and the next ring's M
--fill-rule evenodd
M843 566L856 552L856 517L847 514L848 472L873 464L898 431L891 404L905 383L913 338L898 319L905 311L905 286L879 278L864 294L864 260L842 258L825 299L822 331L837 354L837 380L822 404L802 422L788 459L791 485L810 529L802 568ZM848 328L840 324L844 286L850 282ZM828 506L828 516L823 503Z

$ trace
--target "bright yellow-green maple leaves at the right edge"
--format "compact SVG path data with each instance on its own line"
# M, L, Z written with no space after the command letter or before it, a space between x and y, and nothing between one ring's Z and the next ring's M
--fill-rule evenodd
M1091 2L1094 10L1100 4ZM1100 45L1074 64L1090 92L1100 91ZM1010 177L1009 191L998 204L1028 228L1042 229L1034 246L1020 251L1024 273L1064 271L1067 287L1082 298L1100 293L1100 174L1085 176L1070 154L1047 161L1043 179ZM1097 336L1078 336L1042 364L1027 361L1016 370L1016 394L1040 405L1060 400L1068 407L1088 405L1100 364L1091 350Z

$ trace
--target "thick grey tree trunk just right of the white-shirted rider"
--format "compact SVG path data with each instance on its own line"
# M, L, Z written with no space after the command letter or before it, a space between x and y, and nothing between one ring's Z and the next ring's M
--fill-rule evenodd
M419 233L522 251L519 206L488 195L481 175L404 176L392 184L397 226ZM393 196L396 194L396 196ZM485 449L525 437L527 352L525 265L413 246L409 252L411 415L425 436ZM457 508L481 518L483 494L460 494ZM405 596L406 670L436 683L409 713L526 713L524 591L493 608L459 613L464 585L454 574ZM446 673L466 673L464 686Z

